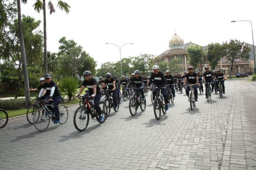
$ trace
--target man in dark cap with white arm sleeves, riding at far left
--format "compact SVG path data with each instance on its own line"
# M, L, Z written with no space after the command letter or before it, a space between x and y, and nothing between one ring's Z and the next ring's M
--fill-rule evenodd
M53 110L55 112L55 121L54 124L60 123L60 112L58 109L58 104L61 102L61 93L54 81L52 81L52 77L49 74L45 74L44 76L45 83L42 86L41 91L38 94L39 100L48 99L48 102L53 103ZM46 94L42 96L44 93L44 89L46 89ZM52 110L52 109L51 109ZM48 116L48 115L45 115Z

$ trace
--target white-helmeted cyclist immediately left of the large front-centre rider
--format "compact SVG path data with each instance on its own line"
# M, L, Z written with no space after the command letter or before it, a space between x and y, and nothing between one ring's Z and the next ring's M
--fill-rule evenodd
M142 96L142 100L145 100L144 87L143 87L143 78L140 76L140 71L139 70L134 71L134 77L131 78L131 82L127 85L127 87L129 88L131 85L133 85L134 88L140 88L136 91L140 91L140 94ZM126 89L127 91L128 91L128 88Z

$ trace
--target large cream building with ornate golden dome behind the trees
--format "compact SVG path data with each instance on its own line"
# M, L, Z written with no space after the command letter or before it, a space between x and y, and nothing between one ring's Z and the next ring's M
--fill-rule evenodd
M244 61L242 59L236 59L233 68L235 69L233 73L244 71L247 73L253 73L253 68L254 68L254 59L253 59L253 45L248 44L249 48L251 48L250 51L250 58L248 61ZM181 39L176 33L172 37L172 40L169 41L169 49L164 51L162 54L157 56L155 59L152 61L155 62L156 64L159 62L171 62L172 59L180 59L180 66L181 69L177 71L177 73L181 73L183 71L187 71L187 68L190 66L188 62L188 52L186 51L186 48L190 45L197 45L192 42L188 42L184 44L183 39ZM203 50L207 50L208 45L202 46ZM198 70L203 71L204 66L208 65L209 62L206 57L203 57L202 63L198 65ZM230 61L227 61L225 57L223 57L219 62L216 68L221 68L222 70L228 70L230 69ZM210 66L209 66L210 67ZM211 69L211 68L210 68Z

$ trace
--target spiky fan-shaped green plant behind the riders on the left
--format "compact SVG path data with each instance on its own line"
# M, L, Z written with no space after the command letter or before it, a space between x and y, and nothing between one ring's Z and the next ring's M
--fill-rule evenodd
M77 94L77 88L81 85L79 79L76 77L65 77L61 79L58 88L60 88L60 92L62 96L68 96L69 101L71 101L72 97L75 98L75 94Z

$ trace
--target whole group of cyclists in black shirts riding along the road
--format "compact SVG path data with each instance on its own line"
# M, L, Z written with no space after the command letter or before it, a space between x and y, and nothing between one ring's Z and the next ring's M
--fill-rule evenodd
M129 92L129 88L133 86L137 88L137 93L140 93L142 99L145 100L145 88L152 87L154 85L158 88L161 88L161 93L165 100L165 109L166 111L169 109L169 96L167 94L168 88L171 89L173 97L175 97L175 87L178 84L178 88L186 87L186 95L189 96L189 86L186 84L192 84L194 86L194 94L195 94L195 101L198 101L198 85L201 86L201 90L204 91L203 82L210 83L212 85L212 92L214 86L217 88L218 91L218 81L225 79L224 74L221 73L221 70L213 70L212 72L209 71L209 67L204 67L205 72L203 75L198 71L197 73L194 72L192 66L188 67L188 73L184 72L184 75L175 74L174 76L171 75L169 70L165 71L165 74L159 71L159 66L154 65L152 67L151 76L148 79L146 75L140 76L140 71L135 70L133 74L131 74L131 78L122 76L120 82L116 77L112 77L111 73L107 73L105 75L105 79L99 77L99 82L96 81L95 78L92 77L92 73L90 71L84 71L84 81L81 85L79 93L76 97L80 96L81 93L84 91L84 88L87 88L87 94L83 96L83 100L85 96L91 96L94 99L94 105L96 108L96 112L98 113L99 119L105 119L105 115L102 114L101 108L99 107L99 102L102 97L102 90L108 90L107 93L112 94L113 96L113 109L116 110L117 107L117 93L119 93L120 88L125 88ZM217 72L217 73L215 73ZM50 103L53 103L53 112L55 113L56 120L54 124L60 123L59 119L59 110L58 104L61 101L61 94L60 91L54 81L52 81L51 76L46 74L45 77L40 78L41 85L38 88L30 89L30 91L38 91L38 100L48 99ZM216 83L216 85L215 85ZM223 88L223 94L225 94L225 86L224 81L221 81L221 85ZM208 86L205 85L205 95L207 96L207 88ZM154 100L157 90L151 88L152 90L152 99ZM177 90L177 89L176 89Z

